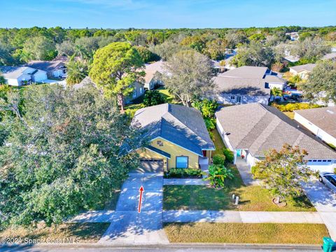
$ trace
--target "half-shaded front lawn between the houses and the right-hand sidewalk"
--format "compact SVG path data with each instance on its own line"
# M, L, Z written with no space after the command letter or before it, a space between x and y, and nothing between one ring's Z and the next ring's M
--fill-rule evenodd
M232 202L239 195L239 205ZM233 210L233 211L316 211L307 197L288 201L286 207L272 202L272 195L260 186L230 186L222 189L208 186L164 186L165 210Z

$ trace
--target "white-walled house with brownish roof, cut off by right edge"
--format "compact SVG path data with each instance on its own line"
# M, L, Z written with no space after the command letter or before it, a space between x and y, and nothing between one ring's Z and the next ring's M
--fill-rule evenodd
M297 110L294 120L325 143L336 146L336 107Z

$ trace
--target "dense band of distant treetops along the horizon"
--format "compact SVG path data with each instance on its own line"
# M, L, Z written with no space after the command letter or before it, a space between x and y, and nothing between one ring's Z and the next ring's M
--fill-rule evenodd
M31 27L0 29L0 64L19 64L31 59L52 59L58 55L91 57L98 48L113 42L128 42L163 59L192 48L211 59L223 59L225 48L260 43L267 47L289 43L286 32L298 31L300 42L313 39L336 41L336 27L274 27L244 29L64 29ZM319 53L319 52L318 52ZM301 56L301 54L300 54ZM83 59L83 58L81 58ZM146 60L144 60L146 62Z

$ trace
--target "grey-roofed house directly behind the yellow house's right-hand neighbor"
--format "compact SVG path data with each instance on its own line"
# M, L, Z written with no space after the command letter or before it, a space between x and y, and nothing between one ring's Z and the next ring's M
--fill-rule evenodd
M214 78L217 96L221 104L268 104L271 89L283 90L286 80L262 66L241 66L218 74Z

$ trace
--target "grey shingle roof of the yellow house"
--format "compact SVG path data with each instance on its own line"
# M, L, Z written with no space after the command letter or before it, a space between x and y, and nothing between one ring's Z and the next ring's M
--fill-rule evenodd
M176 104L160 104L139 109L132 120L146 132L144 137L162 137L197 155L214 149L202 114L197 109Z

